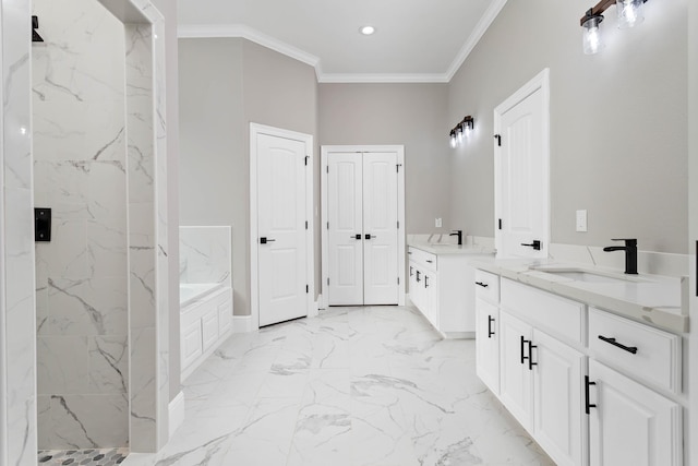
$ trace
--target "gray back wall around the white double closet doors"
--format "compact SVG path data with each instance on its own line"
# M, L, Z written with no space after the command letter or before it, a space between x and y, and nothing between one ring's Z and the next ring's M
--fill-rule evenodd
M446 84L321 84L320 138L329 144L404 144L406 231L467 230L452 222ZM462 117L461 117L462 118ZM443 228L434 228L442 217Z

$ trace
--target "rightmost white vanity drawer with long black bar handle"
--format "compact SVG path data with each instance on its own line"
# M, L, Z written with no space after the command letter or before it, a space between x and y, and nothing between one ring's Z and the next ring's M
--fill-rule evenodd
M598 309L589 310L589 350L628 375L681 392L681 338ZM635 353L633 353L635 351Z

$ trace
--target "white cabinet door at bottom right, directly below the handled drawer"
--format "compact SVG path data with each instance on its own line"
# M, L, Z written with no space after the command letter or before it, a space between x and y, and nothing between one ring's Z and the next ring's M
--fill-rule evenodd
M681 466L682 408L590 359L591 466Z

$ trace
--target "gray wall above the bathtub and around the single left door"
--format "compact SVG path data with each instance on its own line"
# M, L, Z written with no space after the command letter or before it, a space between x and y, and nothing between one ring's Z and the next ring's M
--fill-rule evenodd
M181 39L180 63L180 224L232 225L234 308L237 315L245 315L250 122L309 133L317 141L315 73L237 38Z

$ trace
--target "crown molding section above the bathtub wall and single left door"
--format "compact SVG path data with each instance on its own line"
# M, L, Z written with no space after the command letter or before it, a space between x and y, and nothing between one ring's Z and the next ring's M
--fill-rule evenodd
M320 72L320 58L282 40L276 39L244 24L188 24L177 29L179 38L213 38L213 37L240 37L255 44L270 48L274 51L286 55L305 64L315 68Z

